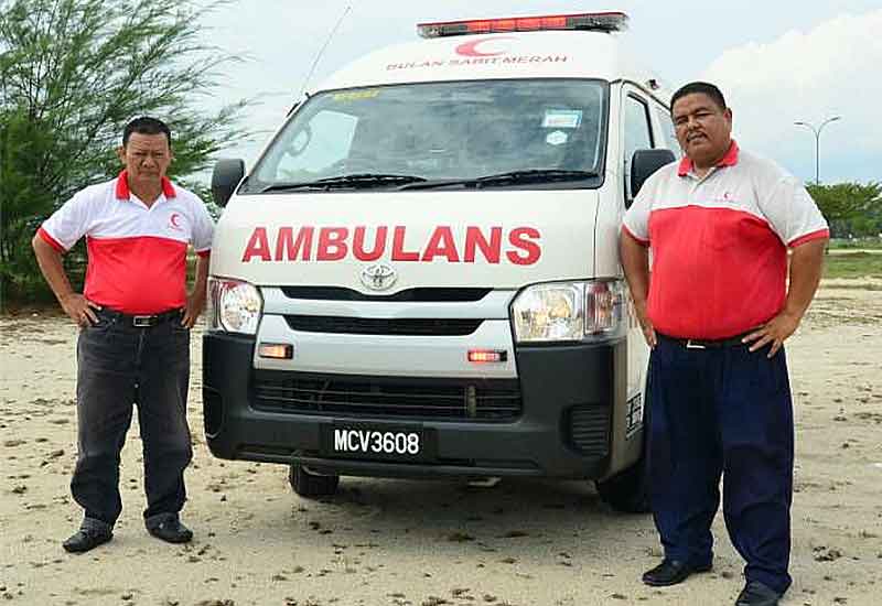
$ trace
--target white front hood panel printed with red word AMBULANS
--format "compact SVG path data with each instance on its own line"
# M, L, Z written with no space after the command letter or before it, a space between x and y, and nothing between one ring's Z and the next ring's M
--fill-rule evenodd
M218 221L211 272L365 294L583 279L594 274L598 199L593 190L239 196Z

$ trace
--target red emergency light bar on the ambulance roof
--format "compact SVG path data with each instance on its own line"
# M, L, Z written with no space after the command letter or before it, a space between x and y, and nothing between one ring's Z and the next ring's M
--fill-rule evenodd
M419 23L417 25L417 32L422 37L504 32L538 32L545 30L621 32L626 29L627 15L623 12L583 12L578 14L552 14L545 17L471 19L466 21Z

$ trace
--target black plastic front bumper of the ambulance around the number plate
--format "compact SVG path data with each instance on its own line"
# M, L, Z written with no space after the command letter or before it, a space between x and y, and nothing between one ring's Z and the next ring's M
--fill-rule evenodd
M302 463L320 473L378 477L594 479L610 473L612 436L617 433L613 428L624 414L627 370L624 339L599 345L518 347L515 351L518 379L509 382L519 390L519 410L502 420L267 410L258 401L258 383L262 379L260 371L252 369L254 347L250 337L223 333L207 333L203 337L205 433L208 447L217 457ZM280 372L275 375L278 377ZM334 378L351 380L345 376ZM372 377L362 380L369 381ZM322 428L341 422L373 423L384 429L418 425L431 437L431 457L419 463L400 463L330 456L324 448Z

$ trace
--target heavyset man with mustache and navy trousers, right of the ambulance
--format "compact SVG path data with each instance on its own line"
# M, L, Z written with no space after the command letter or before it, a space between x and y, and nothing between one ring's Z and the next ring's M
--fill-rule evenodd
M671 116L686 155L646 181L621 238L653 347L652 505L665 559L643 581L674 585L711 569L722 474L725 524L746 561L735 604L772 606L790 585L794 425L783 343L815 295L829 231L796 178L739 149L716 86L680 88Z

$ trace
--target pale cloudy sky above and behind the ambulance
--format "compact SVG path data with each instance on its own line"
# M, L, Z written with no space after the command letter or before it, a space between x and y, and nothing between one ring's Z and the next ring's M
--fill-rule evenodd
M226 68L218 99L258 98L247 126L263 133L223 155L251 165L346 7L308 90L369 51L417 40L418 22L624 10L632 43L671 89L692 79L720 85L741 147L810 181L815 136L794 121L841 116L820 138L821 181L882 181L880 0L239 0L203 23L212 43L246 59Z

